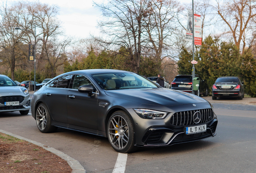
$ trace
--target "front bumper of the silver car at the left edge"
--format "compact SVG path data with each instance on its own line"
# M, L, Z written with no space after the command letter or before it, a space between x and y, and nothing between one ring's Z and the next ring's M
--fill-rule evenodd
M17 96L17 97L24 97L24 96ZM30 107L31 107L30 97L29 95L26 95L23 101L19 103L19 105L17 106L5 106L4 103L0 103L0 112L27 111L30 109Z

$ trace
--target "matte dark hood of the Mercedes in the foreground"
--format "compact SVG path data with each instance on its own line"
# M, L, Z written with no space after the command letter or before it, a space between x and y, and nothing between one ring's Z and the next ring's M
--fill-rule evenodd
M111 97L159 106L207 102L196 95L165 88L111 90L105 91L105 93Z

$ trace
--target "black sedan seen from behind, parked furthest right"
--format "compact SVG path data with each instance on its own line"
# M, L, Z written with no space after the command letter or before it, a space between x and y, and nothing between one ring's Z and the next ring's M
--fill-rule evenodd
M218 77L213 84L212 99L217 97L235 97L239 100L244 98L244 82L236 76Z

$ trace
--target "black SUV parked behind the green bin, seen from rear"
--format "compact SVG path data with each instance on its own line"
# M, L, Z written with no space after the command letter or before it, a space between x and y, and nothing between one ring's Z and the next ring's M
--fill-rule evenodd
M199 89L195 91L195 95L208 96L208 86L202 78L195 74L195 77L200 79ZM192 75L191 74L178 74L171 82L171 89L192 93Z

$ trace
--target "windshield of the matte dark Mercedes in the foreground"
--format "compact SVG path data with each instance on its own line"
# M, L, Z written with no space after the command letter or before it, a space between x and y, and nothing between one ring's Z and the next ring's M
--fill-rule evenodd
M157 88L157 85L150 80L129 72L93 74L92 76L105 90Z

